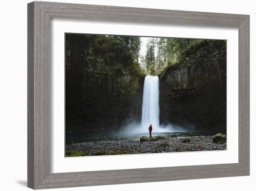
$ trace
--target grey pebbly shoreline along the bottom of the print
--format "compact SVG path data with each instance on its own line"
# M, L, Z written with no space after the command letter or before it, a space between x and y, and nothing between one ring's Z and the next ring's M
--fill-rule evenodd
M95 156L112 154L170 153L190 151L226 150L227 144L214 143L212 136L189 137L190 142L182 138L158 139L155 141L109 140L83 142L66 146L66 157Z

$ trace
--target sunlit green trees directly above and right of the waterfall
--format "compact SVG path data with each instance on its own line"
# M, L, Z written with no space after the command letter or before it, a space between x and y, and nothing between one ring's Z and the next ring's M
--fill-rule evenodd
M211 44L216 57L226 57L226 43L222 40L148 38L146 53L140 55L141 68L147 75L159 75L170 66L186 63L192 51L206 44Z

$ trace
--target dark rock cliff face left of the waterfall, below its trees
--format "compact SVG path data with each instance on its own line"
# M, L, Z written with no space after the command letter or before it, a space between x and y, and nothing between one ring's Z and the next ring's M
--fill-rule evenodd
M84 35L67 38L67 134L106 133L124 122L140 120L144 76L127 63L88 58L97 52L88 53L91 47L85 46Z

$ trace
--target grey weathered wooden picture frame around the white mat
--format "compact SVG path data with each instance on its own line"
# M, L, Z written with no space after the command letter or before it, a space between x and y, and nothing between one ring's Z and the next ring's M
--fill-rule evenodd
M51 173L50 19L236 27L239 30L239 161L234 164ZM35 1L28 4L27 185L33 189L249 175L249 15Z

